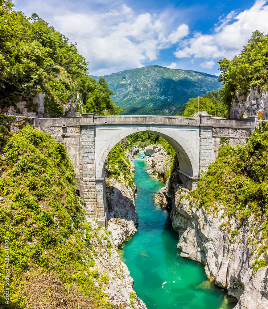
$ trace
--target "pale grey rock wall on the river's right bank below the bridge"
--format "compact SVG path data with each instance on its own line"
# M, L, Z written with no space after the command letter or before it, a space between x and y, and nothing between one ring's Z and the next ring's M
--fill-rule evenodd
M267 253L259 255L257 250L261 223L253 214L242 226L238 218L228 221L220 205L218 213L208 213L192 203L178 176L176 169L160 193L159 204L171 209L172 226L179 235L180 256L202 263L208 279L238 299L236 309L267 308L268 267L256 267L261 266L258 261L268 261Z

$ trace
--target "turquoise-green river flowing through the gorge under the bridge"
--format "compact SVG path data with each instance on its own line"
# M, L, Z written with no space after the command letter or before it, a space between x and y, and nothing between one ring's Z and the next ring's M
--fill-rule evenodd
M119 254L135 281L137 295L148 309L233 308L237 302L208 281L203 265L179 257L179 237L169 213L154 201L163 182L145 173L149 165L143 152L134 156L134 163L138 231Z

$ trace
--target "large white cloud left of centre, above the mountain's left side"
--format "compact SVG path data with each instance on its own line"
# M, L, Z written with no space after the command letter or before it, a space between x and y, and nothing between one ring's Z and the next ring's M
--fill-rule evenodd
M90 74L98 76L155 61L162 49L189 32L182 24L170 33L161 17L150 13L136 16L124 2L116 10L100 14L58 14L55 22L57 30L75 38L79 52L89 62Z

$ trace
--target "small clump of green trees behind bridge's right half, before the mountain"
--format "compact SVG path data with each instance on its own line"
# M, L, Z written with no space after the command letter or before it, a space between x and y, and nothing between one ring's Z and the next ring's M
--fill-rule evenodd
M179 110L176 116L186 116L193 117L194 112L197 112L198 108L198 97L191 98L187 103L185 103ZM221 99L221 94L217 90L208 91L208 93L199 97L199 111L207 112L208 115L217 117L226 117L227 108L223 104Z

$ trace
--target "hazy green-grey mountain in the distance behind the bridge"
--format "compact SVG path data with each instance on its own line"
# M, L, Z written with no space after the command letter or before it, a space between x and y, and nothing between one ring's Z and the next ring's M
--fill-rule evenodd
M104 78L115 94L113 100L117 100L121 108L131 108L132 113L135 112L133 107L155 109L163 104L182 106L188 99L219 90L222 86L215 75L162 66L146 66L92 77Z

